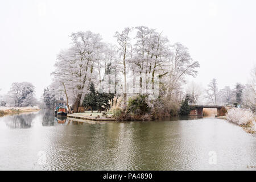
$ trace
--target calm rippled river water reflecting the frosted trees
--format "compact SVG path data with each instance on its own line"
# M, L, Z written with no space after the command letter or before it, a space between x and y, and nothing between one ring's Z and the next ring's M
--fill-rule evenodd
M0 117L0 170L256 170L256 135L216 118L84 123Z

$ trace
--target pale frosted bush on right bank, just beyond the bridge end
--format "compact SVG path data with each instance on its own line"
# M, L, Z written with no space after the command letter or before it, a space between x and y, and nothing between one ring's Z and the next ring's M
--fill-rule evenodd
M255 122L253 112L238 108L230 109L226 114L226 119L238 125L246 125Z

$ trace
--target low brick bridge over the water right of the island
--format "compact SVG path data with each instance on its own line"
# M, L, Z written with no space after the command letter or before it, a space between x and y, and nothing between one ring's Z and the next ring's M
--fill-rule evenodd
M204 108L210 108L210 109L217 109L217 116L223 116L225 115L226 108L224 105L214 105L214 106L208 106L208 105L191 105L195 109L191 110L189 115L199 115L203 116L203 109ZM222 109L222 107L224 109Z

